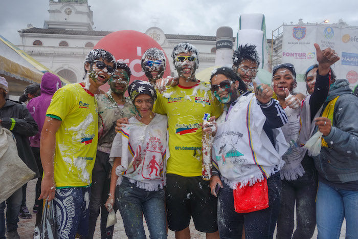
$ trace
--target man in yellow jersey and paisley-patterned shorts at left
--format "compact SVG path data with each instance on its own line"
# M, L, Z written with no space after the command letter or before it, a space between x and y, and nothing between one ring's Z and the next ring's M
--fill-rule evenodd
M54 200L58 238L85 236L92 169L98 140L95 92L115 71L115 58L95 49L84 62L81 83L63 86L53 96L40 140L43 167L40 199Z

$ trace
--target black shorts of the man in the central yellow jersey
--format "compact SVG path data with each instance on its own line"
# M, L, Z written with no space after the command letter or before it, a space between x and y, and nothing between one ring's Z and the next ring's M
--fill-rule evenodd
M192 216L196 230L217 231L217 198L211 194L209 182L201 176L167 174L166 204L170 230L184 230Z

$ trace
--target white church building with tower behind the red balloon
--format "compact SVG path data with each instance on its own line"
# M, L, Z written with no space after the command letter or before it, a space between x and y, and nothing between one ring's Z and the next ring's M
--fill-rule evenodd
M49 20L44 21L43 28L28 25L28 28L18 31L21 44L17 47L70 82L80 81L84 75L85 55L111 32L93 30L93 12L87 0L50 0L49 13ZM198 71L214 66L215 36L165 34L158 27L151 27L145 33L165 51L172 75L176 72L173 72L170 55L174 46L183 41L198 49Z

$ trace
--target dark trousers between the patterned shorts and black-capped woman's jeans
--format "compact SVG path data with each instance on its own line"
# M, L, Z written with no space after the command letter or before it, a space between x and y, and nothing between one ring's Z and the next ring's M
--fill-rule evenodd
M101 210L101 237L111 239L115 225L106 228L108 211L104 204L108 199L110 187L110 173L112 166L109 163L109 154L97 150L95 166L92 171L91 199L89 200L89 230L87 239L92 239L96 229L96 222ZM117 205L114 205L117 211Z

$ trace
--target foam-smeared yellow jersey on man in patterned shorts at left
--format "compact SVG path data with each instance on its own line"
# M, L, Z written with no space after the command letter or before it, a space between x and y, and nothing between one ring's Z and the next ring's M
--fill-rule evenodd
M91 185L98 141L98 110L94 95L80 83L59 89L47 116L60 119L56 132L56 188Z

